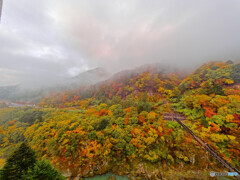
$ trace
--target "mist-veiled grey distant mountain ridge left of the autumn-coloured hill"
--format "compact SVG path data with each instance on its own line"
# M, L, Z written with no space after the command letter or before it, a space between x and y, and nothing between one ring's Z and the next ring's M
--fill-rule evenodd
M41 78L29 78L29 80L18 84L5 85L0 87L0 100L39 100L53 92L72 90L80 86L87 86L107 79L110 74L103 68L95 68L78 74L75 77L48 76L44 81Z

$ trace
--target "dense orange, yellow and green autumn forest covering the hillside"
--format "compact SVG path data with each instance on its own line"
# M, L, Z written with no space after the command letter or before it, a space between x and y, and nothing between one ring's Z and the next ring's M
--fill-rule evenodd
M240 64L209 62L189 75L155 68L87 89L53 93L37 107L0 108L0 164L22 142L66 176L106 172L150 179L225 171L175 121L240 169Z

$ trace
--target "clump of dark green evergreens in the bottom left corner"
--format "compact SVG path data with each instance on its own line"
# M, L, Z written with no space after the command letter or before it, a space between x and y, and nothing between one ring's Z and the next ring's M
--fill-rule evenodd
M26 144L13 152L1 170L0 180L62 180L63 176L46 161L37 161L35 152Z

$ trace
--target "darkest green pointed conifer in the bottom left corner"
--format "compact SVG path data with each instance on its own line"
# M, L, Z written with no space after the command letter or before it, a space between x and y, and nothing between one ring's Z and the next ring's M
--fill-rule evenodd
M32 169L35 162L35 152L26 143L22 143L20 147L7 159L5 166L1 170L1 179L24 179L28 169Z

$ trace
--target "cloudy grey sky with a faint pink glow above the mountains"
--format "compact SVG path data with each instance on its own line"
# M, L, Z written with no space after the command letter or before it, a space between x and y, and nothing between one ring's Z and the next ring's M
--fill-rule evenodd
M3 0L0 86L240 59L239 0Z

